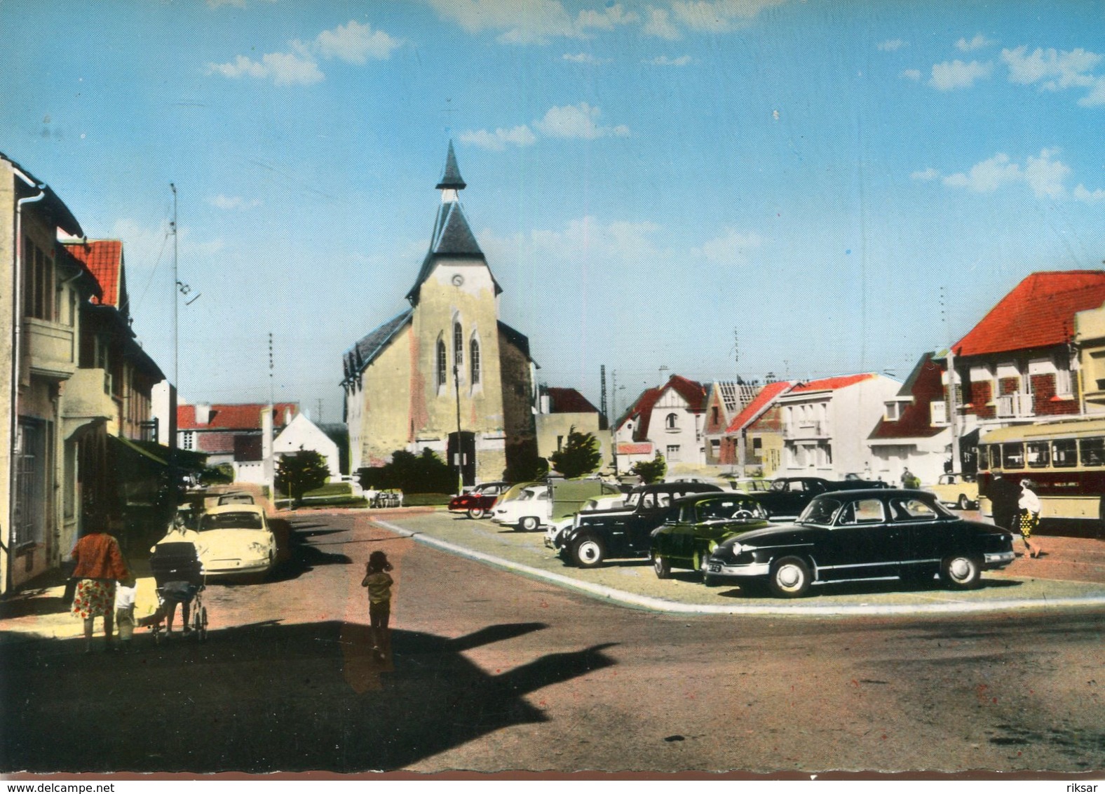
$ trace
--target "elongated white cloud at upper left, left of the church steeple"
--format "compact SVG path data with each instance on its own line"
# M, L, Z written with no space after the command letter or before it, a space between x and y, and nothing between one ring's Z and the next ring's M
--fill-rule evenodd
M314 41L288 42L290 52L270 52L260 61L238 55L228 63L209 63L207 74L232 79L271 77L276 85L312 85L325 79L315 60L317 55L360 65L369 58L389 58L391 51L401 44L401 40L381 30L373 32L370 25L350 20L348 24L324 30Z

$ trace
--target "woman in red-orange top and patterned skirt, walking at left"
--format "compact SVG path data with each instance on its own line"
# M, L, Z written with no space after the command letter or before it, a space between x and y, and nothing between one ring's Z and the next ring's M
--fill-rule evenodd
M107 533L104 519L90 518L92 530L77 540L71 557L76 563L73 577L76 591L71 614L84 620L84 652L92 652L93 624L104 618L105 649L114 650L115 583L129 579L130 572L119 542Z

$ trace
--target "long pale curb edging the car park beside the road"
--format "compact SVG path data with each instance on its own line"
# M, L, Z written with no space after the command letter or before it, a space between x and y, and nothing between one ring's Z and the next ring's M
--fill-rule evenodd
M684 604L670 600L667 598L655 598L642 596L635 593L607 587L606 585L590 584L562 574L543 571L529 565L515 563L493 554L485 554L472 549L459 546L449 541L442 541L420 532L404 530L401 526L381 521L370 516L372 523L382 526L389 532L393 532L402 537L410 537L418 543L433 546L441 551L450 552L469 560L487 563L499 568L514 571L535 578L552 582L558 585L569 587L588 595L598 596L608 600L618 602L627 606L649 609L652 612L663 612L673 615L770 615L770 616L801 616L801 617L829 617L839 615L867 615L867 616L890 616L890 615L940 615L940 614L970 614L988 612L1007 612L1009 609L1046 609L1046 608L1071 608L1071 607L1093 607L1105 606L1105 596L1084 596L1077 598L1033 598L1024 600L992 600L992 602L959 602L956 604L886 604L886 605L836 605L836 606L802 606L792 602L783 602L778 606L774 605L746 605L746 606L720 606L711 604Z

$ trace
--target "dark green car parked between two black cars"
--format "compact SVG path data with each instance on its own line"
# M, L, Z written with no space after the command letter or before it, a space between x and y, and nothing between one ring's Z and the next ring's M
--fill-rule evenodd
M748 493L697 493L677 500L676 518L652 533L652 567L666 579L672 568L702 571L703 562L725 540L768 525L767 512ZM706 584L709 575L704 574Z

